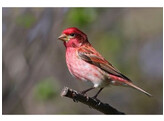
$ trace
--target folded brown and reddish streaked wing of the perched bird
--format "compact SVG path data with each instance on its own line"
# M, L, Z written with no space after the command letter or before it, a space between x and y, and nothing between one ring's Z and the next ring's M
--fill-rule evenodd
M81 47L77 50L77 56L82 59L83 61L93 64L100 69L104 70L105 72L121 77L127 81L131 80L121 74L118 70L116 70L112 64L110 64L107 60L105 60L93 47Z

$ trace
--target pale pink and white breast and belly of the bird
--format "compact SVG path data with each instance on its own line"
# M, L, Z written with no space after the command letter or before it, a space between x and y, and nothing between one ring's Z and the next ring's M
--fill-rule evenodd
M70 73L82 81L90 81L94 87L104 87L109 80L98 67L79 59L73 50L66 52L66 63Z

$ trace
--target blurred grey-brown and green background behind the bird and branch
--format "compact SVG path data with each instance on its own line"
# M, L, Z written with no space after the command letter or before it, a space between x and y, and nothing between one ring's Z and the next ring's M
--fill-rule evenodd
M126 114L163 114L162 8L3 8L3 114L101 114L60 96L64 86L88 88L70 75L57 40L67 27L85 32L96 50L153 95L109 87L98 97L102 102Z

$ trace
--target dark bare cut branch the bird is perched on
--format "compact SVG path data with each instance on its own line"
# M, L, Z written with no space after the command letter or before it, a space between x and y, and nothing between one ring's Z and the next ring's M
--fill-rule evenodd
M73 90L73 89L69 89L68 87L64 87L62 92L61 92L61 96L65 96L65 97L69 97L71 99L73 99L73 101L76 102L81 102L83 104L88 105L89 107L92 107L104 114L125 114L123 112L120 112L118 110L116 110L115 108L113 108L112 106L110 106L107 103L102 103L100 100L96 100L94 98L82 95L81 93L78 93L77 91Z

